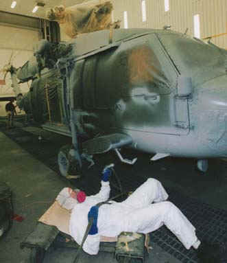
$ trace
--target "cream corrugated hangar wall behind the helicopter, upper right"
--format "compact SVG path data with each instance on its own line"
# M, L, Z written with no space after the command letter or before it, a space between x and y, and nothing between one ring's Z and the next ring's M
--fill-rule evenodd
M124 11L128 14L128 27L161 29L171 25L172 30L194 36L193 16L200 15L200 36L205 38L227 32L226 0L145 0L146 21L142 21L141 4L143 0L112 0L113 18L121 20L124 27ZM169 2L169 11L165 12L165 3ZM93 1L100 3L100 1ZM61 32L62 40L69 38ZM227 49L227 35L213 38L215 45Z

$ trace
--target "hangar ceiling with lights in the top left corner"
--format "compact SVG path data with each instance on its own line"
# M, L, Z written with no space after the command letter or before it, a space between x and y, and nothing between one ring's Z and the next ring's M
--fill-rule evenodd
M16 7L11 8L13 0L0 1L0 11L10 12L13 14L23 14L25 16L33 16L36 18L46 18L45 13L49 8L53 8L55 5L65 5L66 7L71 5L79 5L82 3L102 2L95 0L16 0ZM45 3L44 7L39 7L37 12L32 13L33 8L37 2Z

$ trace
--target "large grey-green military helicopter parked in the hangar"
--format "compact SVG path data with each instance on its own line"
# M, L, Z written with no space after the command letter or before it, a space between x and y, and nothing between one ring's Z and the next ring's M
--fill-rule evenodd
M83 160L129 147L165 157L227 157L227 51L173 30L117 29L67 43L41 41L13 85L32 80L17 104L45 130L72 137L63 176ZM16 76L16 78L15 78ZM17 80L16 80L17 79ZM80 144L80 137L85 138Z

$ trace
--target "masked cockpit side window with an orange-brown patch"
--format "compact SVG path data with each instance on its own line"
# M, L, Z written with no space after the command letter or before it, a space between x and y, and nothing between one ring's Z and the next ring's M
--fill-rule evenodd
M126 41L117 60L117 64L125 66L126 80L121 85L121 95L125 98L146 93L167 95L176 87L176 69L156 34ZM119 74L122 75L120 69Z

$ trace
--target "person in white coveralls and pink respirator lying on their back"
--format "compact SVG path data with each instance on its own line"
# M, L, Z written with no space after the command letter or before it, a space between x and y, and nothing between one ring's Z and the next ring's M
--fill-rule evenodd
M50 207L40 221L48 225L56 225L60 231L69 233L75 242L81 245L88 220L93 218L93 225L82 247L90 255L98 253L101 241L115 241L123 231L147 234L163 225L174 233L186 249L202 247L195 234L195 227L176 205L167 201L168 194L156 179L147 179L123 202L109 201L110 204L98 207L98 203L108 201L110 196L111 174L110 168L104 170L101 189L93 196L86 196L80 190L64 188L56 198L56 205L70 212L64 216L62 222L60 222L62 215L55 214L54 217L57 219L52 220L50 224L49 215L53 214ZM208 253L212 251L208 249ZM200 262L206 263L203 260Z

